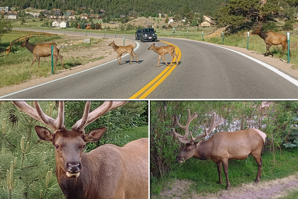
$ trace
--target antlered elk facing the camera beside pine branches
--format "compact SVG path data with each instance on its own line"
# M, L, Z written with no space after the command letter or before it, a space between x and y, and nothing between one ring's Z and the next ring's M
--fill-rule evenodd
M111 109L127 101L105 101L89 113L86 102L83 117L65 128L64 101L59 101L58 117L44 114L37 101L34 107L25 101L13 104L32 118L52 129L35 126L38 137L55 146L56 175L67 199L148 199L148 138L131 141L123 147L104 144L84 153L86 142L97 141L106 127L85 133L85 127Z

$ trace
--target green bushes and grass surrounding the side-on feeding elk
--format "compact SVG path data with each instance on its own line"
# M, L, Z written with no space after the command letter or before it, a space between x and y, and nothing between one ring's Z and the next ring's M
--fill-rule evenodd
M261 154L260 181L270 181L298 172L297 105L297 101L151 101L151 198L162 198L160 193L172 189L177 180L190 183L187 189L181 187L181 198L188 198L194 192L202 195L217 193L226 187L223 172L223 183L218 184L217 166L212 160L190 158L183 164L176 161L175 157L183 146L172 134L176 114L181 114L181 125L186 123L188 108L198 114L198 119L189 128L194 137L202 133L203 125L209 125L207 118L212 112L224 118L224 123L212 134L247 128L265 132L267 138ZM177 131L184 135L180 128L176 128ZM229 160L231 189L241 183L252 183L256 172L257 163L251 155L244 160Z

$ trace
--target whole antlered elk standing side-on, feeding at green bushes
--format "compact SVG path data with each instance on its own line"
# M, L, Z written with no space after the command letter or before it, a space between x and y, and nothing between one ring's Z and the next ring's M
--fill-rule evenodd
M218 132L213 134L207 141L204 141L204 137L209 135L216 126L224 121L223 118L220 118L217 122L215 122L215 113L213 113L209 129L206 130L206 127L204 126L204 134L193 138L193 135L188 128L190 122L198 117L198 115L193 113L193 115L190 116L190 109L187 111L188 116L185 126L181 126L179 124L176 116L176 123L180 128L184 129L185 135L179 135L175 132L175 130L173 130L176 138L181 143L185 144L181 152L176 156L177 161L183 163L183 158L184 160L187 160L191 157L199 160L211 159L217 164L218 183L222 183L221 166L223 166L224 174L226 176L226 189L230 189L231 185L228 178L228 160L243 160L247 158L249 154L252 154L258 165L257 178L254 182L259 182L260 177L262 176L263 160L261 158L261 151L266 138L265 133L258 129L246 129L235 132ZM191 137L190 140L188 139L188 133ZM195 142L201 138L203 139Z

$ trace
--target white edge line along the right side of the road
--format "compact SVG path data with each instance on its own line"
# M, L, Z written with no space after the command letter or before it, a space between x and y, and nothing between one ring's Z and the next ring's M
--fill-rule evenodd
M179 39L179 40L184 40L184 39ZM194 41L194 40L187 40L187 41ZM209 43L202 42L202 41L195 41L195 42L200 42L200 43L203 43L203 44L209 44ZM252 61L255 61L255 62L257 62L258 64L261 64L262 66L268 68L269 70L272 70L273 72L277 73L278 75L282 76L283 78L285 78L286 80L290 81L291 83L295 84L295 85L298 87L298 80L296 80L296 79L290 77L289 75L287 75L287 74L281 72L281 71L278 70L277 68L274 68L273 66L270 66L269 64L266 64L266 63L263 62L263 61L260 61L260 60L258 60L258 59L256 59L256 58L253 58L253 57L249 56L249 55L246 55L246 54L244 54L244 53L240 53L240 52L238 52L238 51L236 51L236 50L232 50L232 49L229 49L229 48L226 48L226 47L218 46L218 45L215 45L215 44L209 44L209 45L216 46L216 47L220 47L220 48L224 48L224 49L226 49L226 50L230 50L230 51L232 51L232 52L234 52L234 53L238 53L239 55L242 55L242 56L244 56L244 57L246 57L246 58L249 58L249 59L251 59Z

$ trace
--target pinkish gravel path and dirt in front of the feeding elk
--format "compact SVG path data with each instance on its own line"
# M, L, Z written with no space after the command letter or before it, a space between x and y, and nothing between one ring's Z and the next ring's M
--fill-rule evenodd
M216 194L189 192L192 181L177 180L172 189L160 192L161 198L200 198L200 199L277 199L284 196L285 192L298 189L298 173L285 178L271 181L260 181L255 184L242 184L231 187L229 191L223 190ZM182 191L181 191L182 190Z

